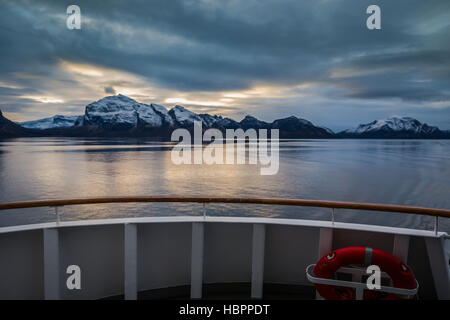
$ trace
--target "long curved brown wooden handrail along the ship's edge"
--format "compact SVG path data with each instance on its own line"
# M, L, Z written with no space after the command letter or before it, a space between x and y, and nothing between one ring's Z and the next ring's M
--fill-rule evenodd
M80 198L80 199L65 199L65 200L38 200L38 201L0 203L0 210L36 208L36 207L59 207L68 205L100 204L100 203L132 203L132 202L247 203L247 204L401 212L407 214L420 214L434 217L450 218L450 210L447 209L399 206L391 204L323 201L323 200L306 200L306 199L278 199L278 198L156 197L156 196Z

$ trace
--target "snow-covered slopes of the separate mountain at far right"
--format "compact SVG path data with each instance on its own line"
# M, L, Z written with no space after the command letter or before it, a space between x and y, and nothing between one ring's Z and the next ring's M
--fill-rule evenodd
M373 133L377 131L399 132L409 131L417 134L429 134L438 131L437 127L432 127L426 123L410 118L410 117L390 117L384 120L375 120L367 124L360 124L354 129L343 131L344 133L363 134Z

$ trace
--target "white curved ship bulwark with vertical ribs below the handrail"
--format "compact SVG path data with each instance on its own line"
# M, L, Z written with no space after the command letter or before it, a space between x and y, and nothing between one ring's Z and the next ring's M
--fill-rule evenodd
M1 209L1 208L0 208ZM419 299L450 299L443 232L301 219L144 217L0 228L0 299L311 298L305 269L369 246L413 270ZM69 290L66 269L81 268Z

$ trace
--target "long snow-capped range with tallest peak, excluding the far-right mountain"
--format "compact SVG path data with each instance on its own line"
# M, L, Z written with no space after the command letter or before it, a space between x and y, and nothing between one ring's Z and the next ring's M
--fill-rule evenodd
M83 116L54 116L27 121L24 127L39 129L39 134L58 136L170 136L173 129L191 128L201 121L203 128L279 129L280 137L332 138L336 135L311 122L289 117L272 123L246 116L240 122L219 115L197 114L176 105L169 111L162 105L144 104L124 95L108 96L88 104Z

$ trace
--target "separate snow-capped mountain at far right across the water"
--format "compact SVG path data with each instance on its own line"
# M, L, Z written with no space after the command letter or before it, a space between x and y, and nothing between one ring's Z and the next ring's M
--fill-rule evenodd
M438 127L429 126L410 117L397 116L360 124L356 128L339 133L342 137L367 138L435 138L445 134L446 132L439 130Z

